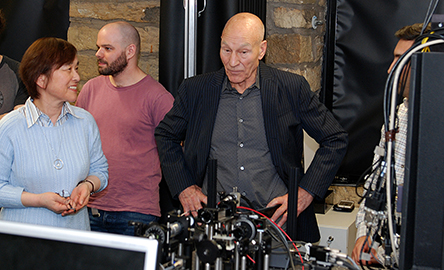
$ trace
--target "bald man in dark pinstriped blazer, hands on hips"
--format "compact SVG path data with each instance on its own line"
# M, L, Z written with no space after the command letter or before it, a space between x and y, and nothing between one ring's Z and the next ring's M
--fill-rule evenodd
M184 211L196 215L207 203L207 162L216 159L218 191L237 187L250 202L242 204L256 209L280 205L272 219L283 225L290 170L302 172L305 129L320 148L299 183L297 235L316 242L312 201L330 186L347 134L302 76L260 62L267 50L263 37L264 25L253 14L227 22L220 47L224 68L185 80L156 128L162 170Z

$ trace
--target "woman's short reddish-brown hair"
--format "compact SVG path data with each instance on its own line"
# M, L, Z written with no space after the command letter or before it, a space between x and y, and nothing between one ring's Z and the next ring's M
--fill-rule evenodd
M20 77L33 99L40 97L37 79L40 75L50 78L53 70L74 61L77 49L66 40L54 37L40 38L29 46L20 64Z

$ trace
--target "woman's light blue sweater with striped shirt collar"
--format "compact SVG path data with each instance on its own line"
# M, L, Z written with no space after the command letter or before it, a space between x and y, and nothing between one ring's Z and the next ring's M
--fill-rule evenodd
M24 207L23 191L71 193L88 175L108 185L108 163L96 122L66 102L56 125L32 102L0 121L0 220L89 230L86 207L62 217L46 208ZM57 170L54 160L61 159Z

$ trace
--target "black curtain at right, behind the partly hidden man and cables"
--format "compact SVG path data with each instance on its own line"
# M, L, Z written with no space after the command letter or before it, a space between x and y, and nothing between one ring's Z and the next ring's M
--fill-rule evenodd
M349 133L337 184L354 184L371 166L383 124L394 33L422 23L428 0L329 0L321 99ZM442 4L437 12L442 13ZM441 12L440 12L441 11Z

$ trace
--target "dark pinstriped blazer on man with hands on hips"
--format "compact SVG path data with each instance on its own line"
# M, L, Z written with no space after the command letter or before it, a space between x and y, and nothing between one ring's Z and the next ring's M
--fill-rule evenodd
M160 163L173 197L191 185L202 186L225 76L222 68L184 80L173 108L156 128ZM265 134L279 176L288 185L290 168L302 168L304 129L320 147L299 186L323 198L345 155L347 133L304 77L262 62L259 76ZM297 224L298 240L319 240L313 205Z

